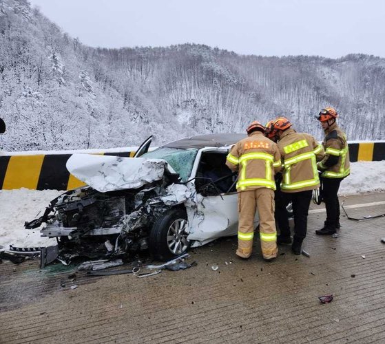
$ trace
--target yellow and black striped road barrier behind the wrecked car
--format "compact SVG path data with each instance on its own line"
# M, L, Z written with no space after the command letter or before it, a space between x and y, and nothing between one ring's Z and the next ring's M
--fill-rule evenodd
M384 142L348 142L351 162L385 160ZM98 153L132 157L134 151ZM0 155L0 189L69 190L85 185L65 168L71 154Z

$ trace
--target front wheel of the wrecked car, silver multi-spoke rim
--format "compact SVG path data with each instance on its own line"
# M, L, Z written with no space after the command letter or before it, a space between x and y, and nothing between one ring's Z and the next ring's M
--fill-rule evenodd
M152 226L149 235L150 253L160 260L167 260L187 252L191 241L187 240L187 214L174 208L164 213Z

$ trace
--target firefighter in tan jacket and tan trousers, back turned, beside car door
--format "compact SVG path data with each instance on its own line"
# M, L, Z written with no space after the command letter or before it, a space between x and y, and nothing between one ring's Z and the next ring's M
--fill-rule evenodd
M253 250L254 217L258 210L262 256L266 261L277 257L277 233L274 221L274 174L280 171L277 144L264 137L264 127L254 121L227 155L227 166L238 171L238 249L236 255L247 259Z

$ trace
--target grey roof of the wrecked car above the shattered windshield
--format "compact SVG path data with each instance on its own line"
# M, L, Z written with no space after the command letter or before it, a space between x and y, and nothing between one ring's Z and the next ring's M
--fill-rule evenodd
M190 138L182 138L180 140L164 144L162 147L180 149L227 147L246 137L247 135L245 133L212 133L207 135L191 136Z

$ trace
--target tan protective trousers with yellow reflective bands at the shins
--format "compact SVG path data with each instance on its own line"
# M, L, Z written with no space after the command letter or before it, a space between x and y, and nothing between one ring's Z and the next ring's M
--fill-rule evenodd
M238 192L238 249L236 255L249 258L253 250L253 222L260 217L260 242L264 259L277 257L277 231L274 220L274 191L259 188Z

